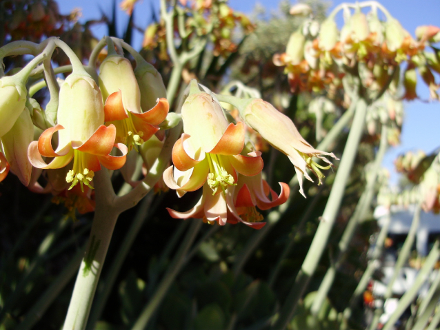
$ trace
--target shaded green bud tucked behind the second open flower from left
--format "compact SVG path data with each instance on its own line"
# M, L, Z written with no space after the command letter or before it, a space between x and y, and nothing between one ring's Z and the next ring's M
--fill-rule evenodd
M156 105L157 99L166 99L166 87L163 84L162 76L150 63L137 63L134 76L141 92L143 111L152 109Z

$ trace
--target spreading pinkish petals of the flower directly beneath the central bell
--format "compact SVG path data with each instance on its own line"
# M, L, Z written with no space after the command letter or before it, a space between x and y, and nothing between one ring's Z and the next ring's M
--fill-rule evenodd
M223 194L212 194L212 189L208 183L203 185L203 194L199 201L186 212L177 212L167 208L168 213L175 219L202 218L204 223L213 224L217 221L223 226L226 223L244 223L254 229L261 229L266 223L261 222L261 218L255 222L243 220L237 209L234 207L234 186L229 186Z

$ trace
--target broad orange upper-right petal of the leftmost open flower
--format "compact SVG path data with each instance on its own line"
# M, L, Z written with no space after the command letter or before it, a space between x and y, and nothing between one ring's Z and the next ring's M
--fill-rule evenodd
M77 143L72 142L72 147L80 152L106 156L112 151L115 138L116 127L114 125L101 125L83 145L77 146Z

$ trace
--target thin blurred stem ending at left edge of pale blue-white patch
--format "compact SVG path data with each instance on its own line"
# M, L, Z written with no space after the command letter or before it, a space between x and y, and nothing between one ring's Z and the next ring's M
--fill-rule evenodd
M372 253L371 260L368 262L367 269L363 272L361 280L359 280L359 283L354 290L352 297L350 298L350 303L348 304L348 307L345 309L345 311L343 311L343 322L341 323L341 329L347 329L348 319L351 316L352 308L354 307L354 305L356 305L363 291L365 291L372 274L380 266L380 262L378 259L382 254L383 244L385 243L385 240L388 236L388 227L390 227L390 223L391 214L388 214L386 216L385 223L383 223L383 227L381 228L381 231L379 231L379 235L377 236L376 245L374 246L374 251Z

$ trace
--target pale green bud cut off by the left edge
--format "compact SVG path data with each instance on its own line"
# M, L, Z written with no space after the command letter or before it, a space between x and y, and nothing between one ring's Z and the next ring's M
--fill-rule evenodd
M0 79L0 138L14 125L26 106L26 86L14 76Z

